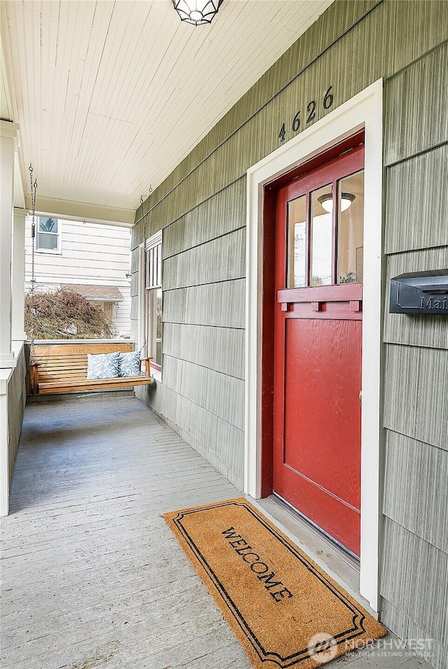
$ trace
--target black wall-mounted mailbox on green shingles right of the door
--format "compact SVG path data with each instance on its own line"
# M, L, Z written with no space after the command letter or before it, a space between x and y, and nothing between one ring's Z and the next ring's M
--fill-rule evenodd
M394 276L389 312L448 315L448 269Z

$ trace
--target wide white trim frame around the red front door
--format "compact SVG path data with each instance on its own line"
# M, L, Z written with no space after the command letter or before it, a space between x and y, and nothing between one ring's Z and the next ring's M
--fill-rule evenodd
M263 186L365 128L360 594L379 608L383 80L337 107L247 172L244 492L261 494Z

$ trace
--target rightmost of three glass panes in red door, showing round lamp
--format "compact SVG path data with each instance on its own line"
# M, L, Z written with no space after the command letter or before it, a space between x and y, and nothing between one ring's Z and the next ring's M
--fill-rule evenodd
M363 281L364 172L339 182L337 283Z

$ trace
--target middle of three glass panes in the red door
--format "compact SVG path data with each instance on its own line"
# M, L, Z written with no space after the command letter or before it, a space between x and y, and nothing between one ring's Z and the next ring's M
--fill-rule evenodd
M311 286L331 283L332 185L311 193Z

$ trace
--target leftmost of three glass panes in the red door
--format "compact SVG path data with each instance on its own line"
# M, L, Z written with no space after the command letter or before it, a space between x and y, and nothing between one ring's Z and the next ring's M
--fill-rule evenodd
M288 202L288 288L306 286L307 196Z

